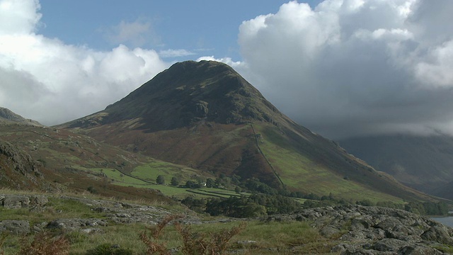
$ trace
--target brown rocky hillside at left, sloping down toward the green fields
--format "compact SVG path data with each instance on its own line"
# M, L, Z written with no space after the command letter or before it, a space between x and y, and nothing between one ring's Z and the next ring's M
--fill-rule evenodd
M125 152L69 130L0 123L0 188L91 192L120 199L174 203L150 189L151 185L134 187L134 183L145 181L131 177L130 172L153 162L149 157ZM110 173L118 176L117 179L108 176Z

